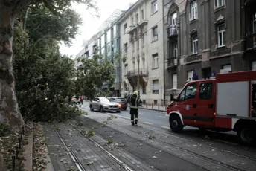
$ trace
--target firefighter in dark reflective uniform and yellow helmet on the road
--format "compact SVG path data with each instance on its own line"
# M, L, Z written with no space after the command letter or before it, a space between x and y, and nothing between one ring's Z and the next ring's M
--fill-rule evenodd
M129 97L130 101L130 111L129 114L131 114L131 123L132 125L138 124L138 103L139 103L139 96L138 91L134 91L132 96Z

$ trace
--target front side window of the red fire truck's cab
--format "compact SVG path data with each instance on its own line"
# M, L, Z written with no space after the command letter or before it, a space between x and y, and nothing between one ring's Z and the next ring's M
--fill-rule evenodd
M182 93L179 95L179 101L191 100L196 97L196 84L188 85L183 89Z

